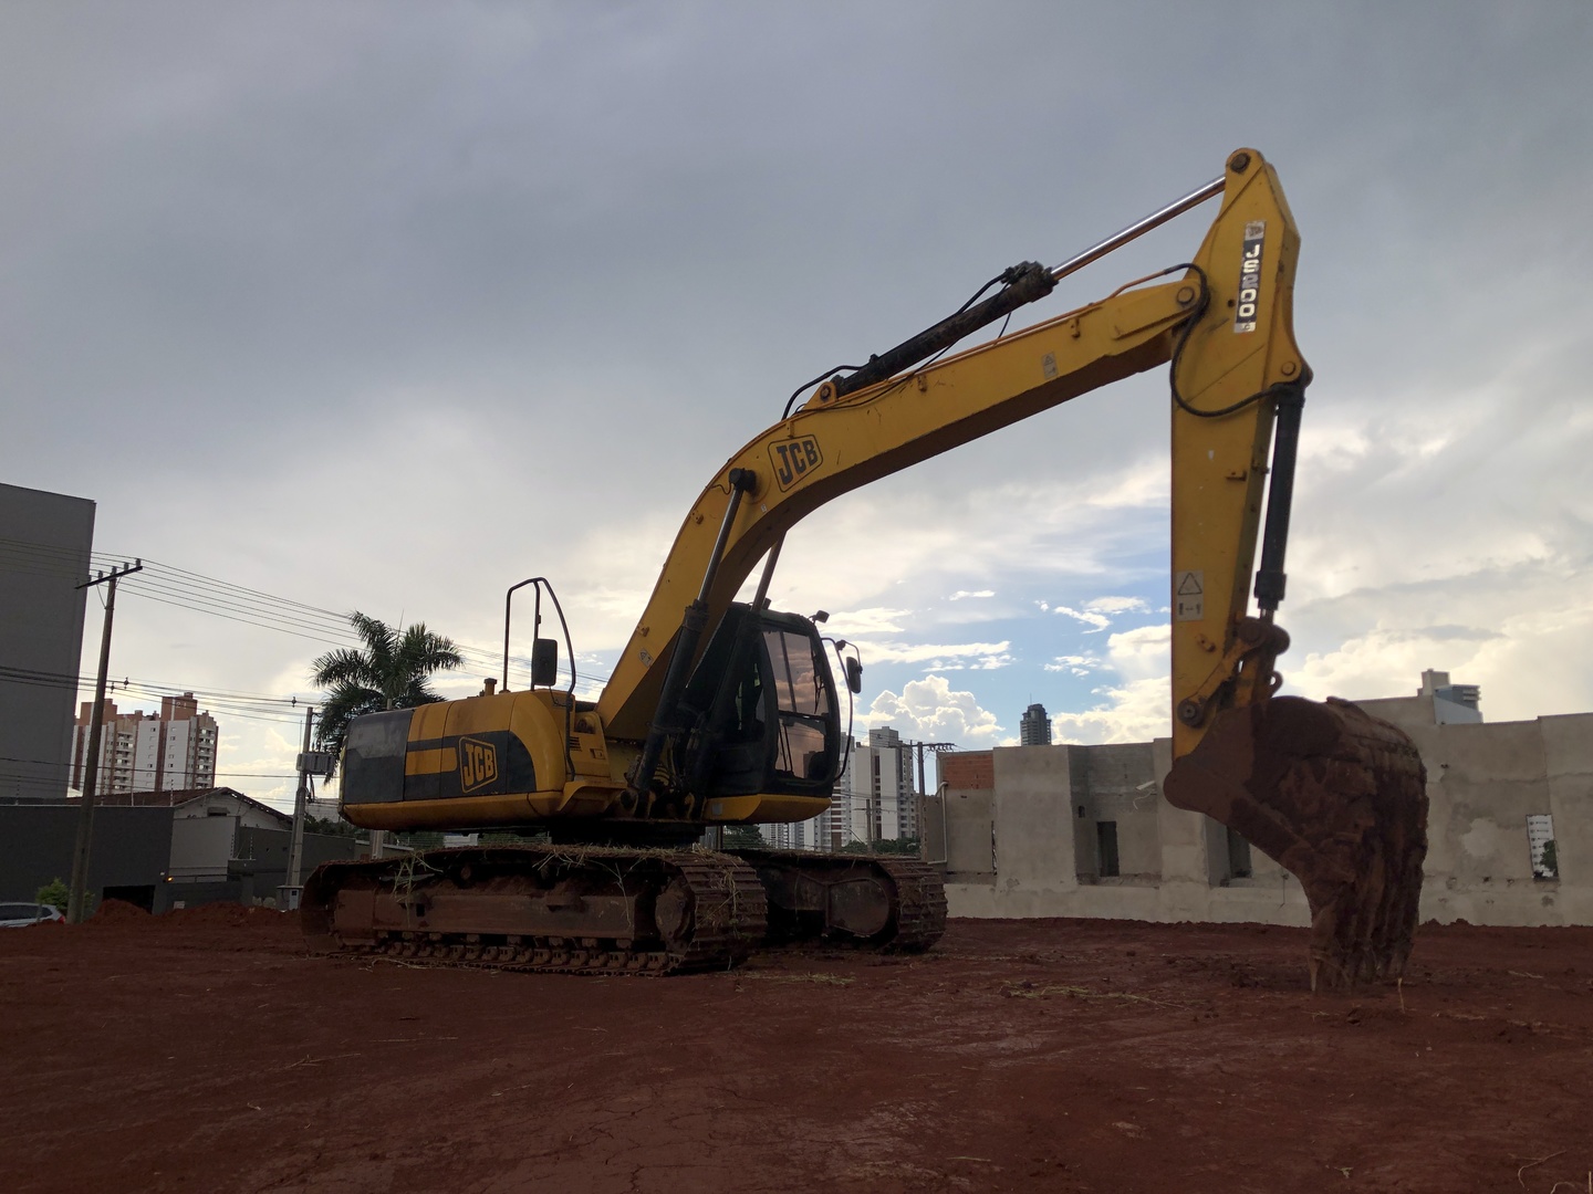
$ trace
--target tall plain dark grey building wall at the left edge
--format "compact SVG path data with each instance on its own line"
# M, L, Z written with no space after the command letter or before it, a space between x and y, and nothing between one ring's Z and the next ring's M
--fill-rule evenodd
M92 541L92 501L0 484L0 796L67 798Z

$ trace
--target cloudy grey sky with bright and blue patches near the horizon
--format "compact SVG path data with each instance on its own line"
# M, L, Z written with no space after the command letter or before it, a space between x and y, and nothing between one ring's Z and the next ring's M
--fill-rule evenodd
M487 654L546 575L602 675L798 382L1249 145L1316 374L1286 691L1435 667L1489 720L1590 710L1590 49L1582 0L16 0L0 479L97 501L97 551ZM820 511L774 602L863 645L860 724L1164 734L1164 441L1161 373L1039 416ZM212 696L220 780L287 798L293 724L215 694L307 697L327 643L153 595L113 672Z

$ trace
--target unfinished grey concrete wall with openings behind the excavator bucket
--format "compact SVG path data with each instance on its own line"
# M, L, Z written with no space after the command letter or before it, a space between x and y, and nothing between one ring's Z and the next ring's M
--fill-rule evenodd
M1431 696L1367 704L1403 723L1427 764L1423 920L1593 923L1593 713L1483 724ZM948 786L943 809L926 807L946 825L951 915L1309 923L1294 876L1260 850L1238 874L1222 825L1161 799L1166 740L989 756L991 780L965 778L981 786ZM980 772L964 761L951 774ZM1534 877L1528 847L1526 818L1544 814L1553 879ZM1099 874L1099 821L1117 825L1117 877ZM992 842L988 876L977 871L983 842Z

